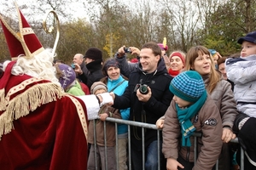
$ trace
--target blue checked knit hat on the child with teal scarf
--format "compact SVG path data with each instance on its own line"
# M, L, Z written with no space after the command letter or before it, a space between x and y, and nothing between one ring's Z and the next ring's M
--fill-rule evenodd
M174 77L169 86L172 94L195 103L206 90L205 83L197 71L184 71Z

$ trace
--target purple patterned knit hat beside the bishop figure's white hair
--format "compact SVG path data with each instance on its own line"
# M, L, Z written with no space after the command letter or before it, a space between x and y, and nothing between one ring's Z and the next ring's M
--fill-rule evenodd
M56 64L56 77L59 78L61 87L66 89L76 79L76 73L72 67L64 64Z

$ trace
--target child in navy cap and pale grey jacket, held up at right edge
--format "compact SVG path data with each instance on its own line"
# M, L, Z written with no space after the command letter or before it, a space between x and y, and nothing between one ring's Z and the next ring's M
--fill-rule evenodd
M256 31L248 33L237 41L241 44L241 56L227 59L227 77L234 82L236 116L233 131L245 150L245 169L256 169ZM236 156L238 156L237 154Z

